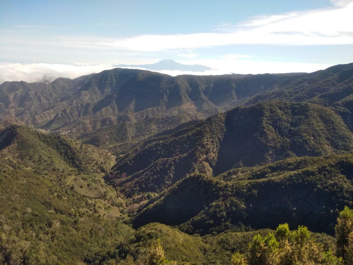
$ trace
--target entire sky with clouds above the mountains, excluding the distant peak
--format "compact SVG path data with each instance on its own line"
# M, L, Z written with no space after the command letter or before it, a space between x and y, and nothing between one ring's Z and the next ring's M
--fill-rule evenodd
M351 63L353 0L0 0L0 83L162 59L203 75Z

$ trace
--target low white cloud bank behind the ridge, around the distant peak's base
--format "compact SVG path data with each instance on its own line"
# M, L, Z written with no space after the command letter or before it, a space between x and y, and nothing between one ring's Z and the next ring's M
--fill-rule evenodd
M204 72L191 71L157 71L171 76L177 75L223 75L229 73L284 73L284 72L313 72L325 69L329 64L311 63L286 63L243 60L241 54L228 54L221 59L195 60L196 64L212 66L218 70ZM238 59L240 58L240 59ZM183 63L181 61L181 63ZM0 84L5 81L26 81L26 82L51 82L58 77L76 78L90 73L98 73L103 70L112 69L113 65L66 65L66 64L0 64ZM131 67L125 67L131 68ZM137 68L148 70L145 68Z

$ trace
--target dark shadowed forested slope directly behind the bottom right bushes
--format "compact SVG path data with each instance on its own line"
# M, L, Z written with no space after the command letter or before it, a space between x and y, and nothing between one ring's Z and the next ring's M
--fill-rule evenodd
M161 222L188 233L237 226L299 224L333 234L339 211L352 205L353 155L289 158L243 167L217 178L190 175L149 202L134 225Z

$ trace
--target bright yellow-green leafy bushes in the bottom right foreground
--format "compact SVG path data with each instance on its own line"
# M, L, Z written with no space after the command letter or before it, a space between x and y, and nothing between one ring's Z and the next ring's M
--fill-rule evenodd
M248 245L247 253L236 252L231 264L352 264L352 221L353 210L345 207L335 226L336 253L332 249L325 251L323 245L313 240L305 226L290 231L288 224L282 224L274 233L255 235Z

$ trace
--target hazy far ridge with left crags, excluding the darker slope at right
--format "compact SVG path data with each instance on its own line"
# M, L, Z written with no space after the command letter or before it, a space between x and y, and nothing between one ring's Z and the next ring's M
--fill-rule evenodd
M254 77L171 77L117 68L103 71L89 80L83 78L81 82L86 82L83 85L73 82L76 80L59 80L59 88L53 88L52 83L5 82L0 90L4 90L2 101L7 104L3 105L0 116L12 115L26 125L88 139L100 128L116 125L110 132L119 131L124 122L147 121L145 130L155 133L218 113L223 110L222 106L262 92L285 78L280 75ZM71 82L71 87L62 84L65 82ZM53 96L38 94L42 87ZM134 132L130 134L134 136ZM142 130L142 135L149 133Z

